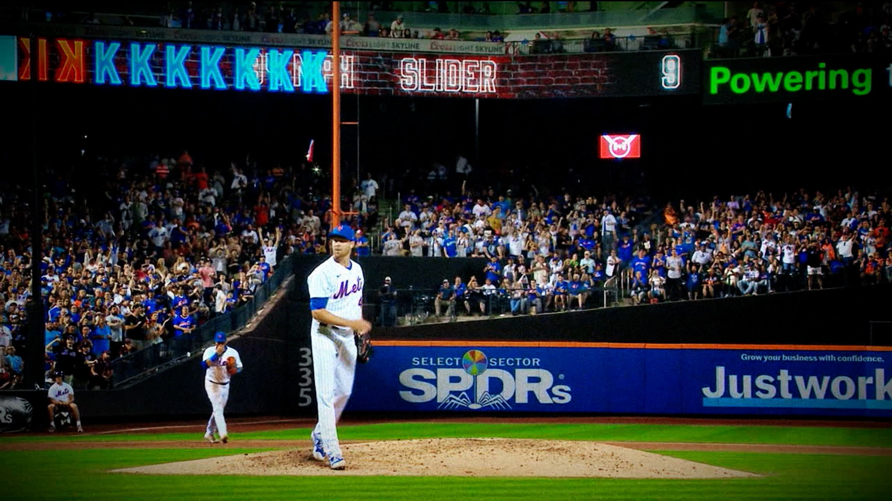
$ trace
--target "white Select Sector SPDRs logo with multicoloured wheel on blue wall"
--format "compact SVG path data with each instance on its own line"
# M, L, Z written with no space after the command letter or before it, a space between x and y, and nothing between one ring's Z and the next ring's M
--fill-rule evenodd
M566 404L570 387L541 368L541 358L487 357L471 349L462 357L414 357L400 374L400 397L412 403L435 400L441 410L513 410L526 404ZM428 368L433 367L433 368ZM505 368L502 368L505 367Z

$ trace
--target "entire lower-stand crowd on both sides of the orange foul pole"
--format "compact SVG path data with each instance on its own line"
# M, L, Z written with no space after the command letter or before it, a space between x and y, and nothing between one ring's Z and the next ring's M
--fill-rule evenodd
M180 152L97 160L89 179L51 171L39 208L46 373L108 388L114 358L189 336L250 300L285 256L324 253L326 182L307 163L268 167L249 159L209 173ZM852 188L662 212L624 194L409 190L369 235L380 186L371 174L352 186L359 256L489 261L467 283L444 277L432 294L438 316L600 307L605 287L640 304L892 281L888 198ZM0 386L13 388L29 349L32 208L16 186L0 191Z

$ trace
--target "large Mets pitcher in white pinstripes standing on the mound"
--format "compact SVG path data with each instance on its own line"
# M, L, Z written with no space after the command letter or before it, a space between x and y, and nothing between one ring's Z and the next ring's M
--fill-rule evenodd
M356 371L354 334L371 330L362 318L362 286L365 276L359 263L350 259L354 246L350 226L332 228L328 234L331 257L307 278L313 321L310 341L315 368L318 423L311 433L312 456L328 460L333 470L343 470L343 459L335 424L353 390Z

